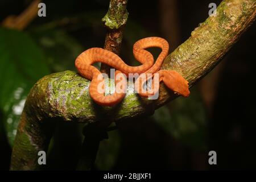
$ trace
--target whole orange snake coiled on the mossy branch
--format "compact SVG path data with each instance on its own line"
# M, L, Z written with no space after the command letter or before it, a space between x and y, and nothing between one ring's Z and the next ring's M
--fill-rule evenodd
M150 47L159 47L162 49L162 52L156 59L155 64L152 54L145 50L146 48ZM126 80L126 76L129 76L129 73L138 73L140 75L138 77L139 79L137 78L137 80L135 81L135 90L142 97L152 96L152 90L154 90L154 93L156 92L156 90L158 91L160 81L163 81L164 84L175 93L180 94L184 97L188 97L190 92L188 89L187 80L185 80L176 71L159 71L164 58L168 54L168 49L169 44L165 39L158 37L149 37L138 40L133 46L134 57L141 63L141 65L137 67L131 67L125 64L125 62L118 55L115 55L115 53L102 48L90 48L82 52L77 57L75 65L77 71L80 73L81 76L87 78L88 80L91 80L89 86L90 97L92 97L92 99L99 105L113 106L122 101L126 93L126 82L121 81ZM109 96L105 96L104 92L98 92L98 85L102 83L102 81L104 83L104 77L97 68L93 67L92 64L96 62L108 64L110 65L110 67L117 69L117 71L115 71L115 85L120 83L123 84L123 86L121 86L121 92L117 92L115 90L115 92ZM152 84L151 92L145 91L141 86L141 84L143 85L150 76L147 77L146 80L143 80L141 79L141 75L143 75L141 73L151 73L151 78L153 77L152 83L155 83L154 75L156 73L159 74L159 80L156 81L156 86L154 86L155 84ZM121 77L117 78L117 75L121 75ZM104 84L102 85L102 89L105 89Z

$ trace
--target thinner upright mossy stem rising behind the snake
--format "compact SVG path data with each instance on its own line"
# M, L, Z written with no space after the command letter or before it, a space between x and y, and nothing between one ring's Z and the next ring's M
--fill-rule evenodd
M104 49L119 55L123 39L123 27L128 19L126 10L128 0L110 0L108 13L102 18L105 27L108 28L106 33ZM110 67L101 64L101 72L109 73Z

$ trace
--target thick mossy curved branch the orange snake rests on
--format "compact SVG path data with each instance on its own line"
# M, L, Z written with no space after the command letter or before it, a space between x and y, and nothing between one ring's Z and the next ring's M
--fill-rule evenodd
M218 6L217 16L209 17L164 60L164 69L181 73L189 85L194 85L220 61L253 23L256 13L254 0L224 0ZM158 107L175 98L164 85L158 100L149 101L133 92L133 84L121 104L102 107L90 99L90 82L75 72L65 71L48 75L31 89L23 110L23 117L15 138L11 169L35 169L39 150L46 150L47 134L44 121L49 118L72 122L101 123L104 118L119 121L124 118L152 114ZM103 125L104 123L102 123Z

